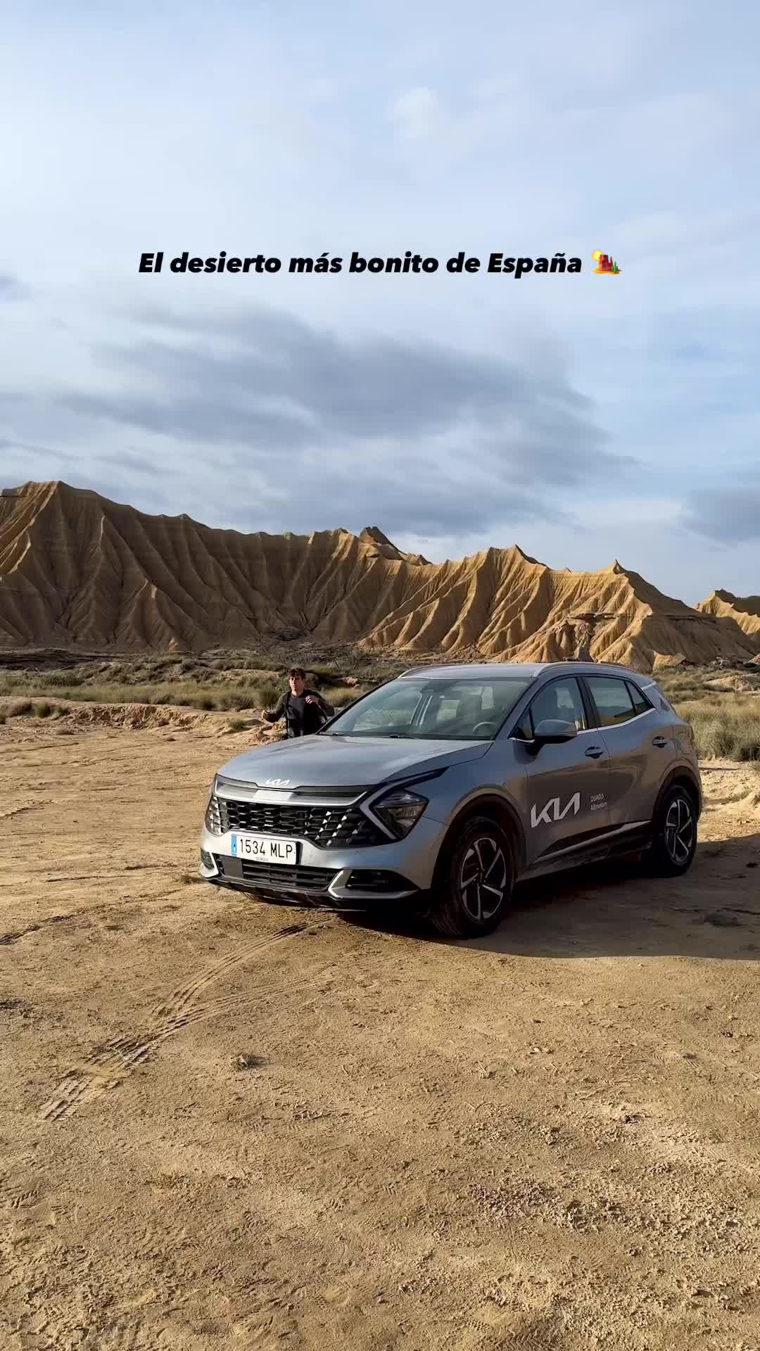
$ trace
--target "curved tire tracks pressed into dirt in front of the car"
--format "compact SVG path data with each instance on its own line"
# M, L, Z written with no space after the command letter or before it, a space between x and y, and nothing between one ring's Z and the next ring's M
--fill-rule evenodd
M173 990L168 1000L164 1000L151 1011L147 1027L142 1034L118 1036L105 1046L95 1050L69 1070L39 1109L42 1120L60 1121L64 1117L73 1116L85 1102L112 1092L135 1069L143 1065L158 1050L162 1042L166 1042L170 1036L176 1036L185 1027L216 1017L231 1009L254 1004L262 994L262 986L258 986L250 994L222 994L215 1000L197 1004L195 1000L215 981L220 979L229 971L243 966L249 958L264 948L296 938L300 934L316 932L316 929L325 927L325 923L311 925L291 924L222 958L187 985ZM303 988L310 985L312 979L314 974L295 982L288 981L288 989ZM269 989L275 988L269 986Z

